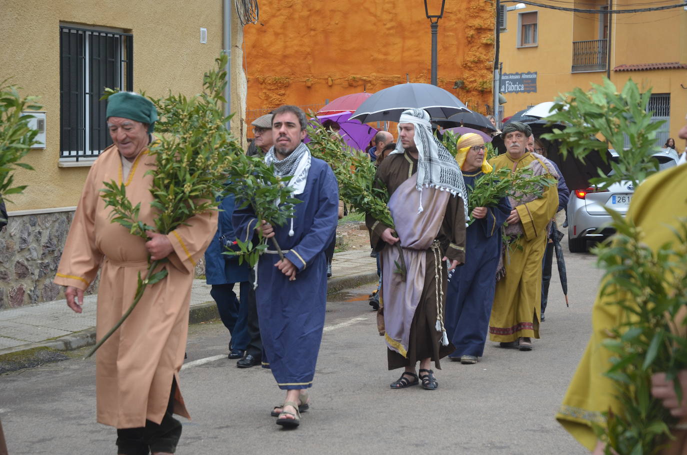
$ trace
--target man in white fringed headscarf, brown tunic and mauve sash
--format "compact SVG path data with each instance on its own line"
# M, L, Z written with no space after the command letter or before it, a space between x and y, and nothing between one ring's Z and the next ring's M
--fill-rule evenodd
M465 260L467 192L455 158L432 136L427 111L403 111L398 146L379 165L376 186L389 191L394 219L394 228L365 220L372 247L381 252L388 366L405 368L391 388L421 382L434 390L431 361L441 369L439 359L453 352L444 330L446 263L452 270ZM398 273L404 262L405 274Z

